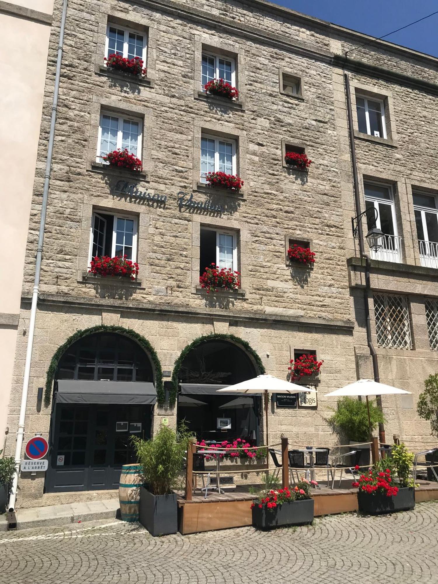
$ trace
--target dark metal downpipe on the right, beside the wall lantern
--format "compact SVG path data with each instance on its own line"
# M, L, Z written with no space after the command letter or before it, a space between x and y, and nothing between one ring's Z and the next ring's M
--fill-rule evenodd
M353 114L352 114L352 100L350 95L350 80L348 75L344 73L345 81L345 93L347 100L347 118L348 118L348 129L349 129L349 141L350 141L350 152L352 154L352 171L353 171L353 193L354 193L354 206L356 207L356 215L360 215L360 194L359 194L359 178L357 176L357 159L356 159L356 147L354 146L354 130L353 130ZM357 239L359 241L359 253L360 257L365 259L365 288L363 292L363 305L365 311L365 323L367 332L367 344L370 349L371 360L373 361L373 375L374 381L379 383L380 376L378 373L378 359L376 349L374 349L373 339L371 337L371 322L370 322L370 308L368 304L369 291L371 290L370 284L370 267L371 260L370 256L365 253L363 245L363 230L361 221L357 221ZM382 411L382 398L380 395L376 396L376 402L378 408ZM385 443L385 427L383 423L378 425L378 433L381 443Z

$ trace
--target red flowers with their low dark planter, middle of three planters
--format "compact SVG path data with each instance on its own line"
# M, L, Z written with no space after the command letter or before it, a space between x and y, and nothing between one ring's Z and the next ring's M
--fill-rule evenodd
M316 481L301 479L293 488L276 488L273 475L265 479L265 488L252 505L252 524L259 529L275 529L290 525L307 525L314 519L314 500L310 488ZM274 488L272 488L274 486Z

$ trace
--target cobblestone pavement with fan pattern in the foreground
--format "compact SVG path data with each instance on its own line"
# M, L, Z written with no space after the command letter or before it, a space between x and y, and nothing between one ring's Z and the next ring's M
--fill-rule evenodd
M0 534L1 584L438 583L438 502L264 533L244 527L153 538L99 521Z

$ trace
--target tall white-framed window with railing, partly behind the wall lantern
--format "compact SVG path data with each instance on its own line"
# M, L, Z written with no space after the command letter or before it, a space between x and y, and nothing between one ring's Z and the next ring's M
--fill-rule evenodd
M365 192L365 206L367 213L367 227L370 230L376 227L383 231L385 237L382 247L377 252L371 251L373 259L387 262L401 262L401 238L398 237L397 220L395 218L394 193L391 185L378 185L366 182L363 185ZM372 211L374 208L375 211Z

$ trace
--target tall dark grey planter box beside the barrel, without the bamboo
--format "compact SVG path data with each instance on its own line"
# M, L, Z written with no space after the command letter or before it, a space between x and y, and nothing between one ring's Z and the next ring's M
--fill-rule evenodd
M176 495L152 495L140 487L140 512L138 520L152 536L166 536L178 531Z

